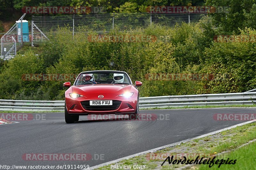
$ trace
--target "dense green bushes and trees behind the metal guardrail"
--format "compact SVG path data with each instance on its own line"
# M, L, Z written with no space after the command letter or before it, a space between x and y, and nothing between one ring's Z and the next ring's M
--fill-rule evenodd
M104 6L107 12L144 12L148 5L202 5L202 1L27 1L0 0L7 7L22 6ZM61 81L25 81L25 74L78 74L85 70L124 70L132 81L140 80L141 96L186 95L244 92L256 87L255 42L217 42L215 35L256 37L255 10L252 1L207 0L206 5L228 6L228 13L209 14L197 23L175 27L152 27L108 35L154 35L155 42L89 42L88 35L98 35L81 28L72 37L69 27L59 28L50 41L39 47L25 46L10 61L0 60L0 99L62 100ZM1 15L1 14L0 14ZM87 32L82 33L82 32ZM36 55L37 54L37 55ZM204 75L196 79L164 80L159 75ZM158 75L158 79L151 80ZM188 77L188 76L187 76ZM71 83L74 80L70 80Z

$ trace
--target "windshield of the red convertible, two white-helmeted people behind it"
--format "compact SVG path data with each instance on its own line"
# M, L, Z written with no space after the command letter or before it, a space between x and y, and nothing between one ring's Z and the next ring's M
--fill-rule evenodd
M75 85L85 84L131 84L130 79L124 72L97 71L81 73L76 79Z

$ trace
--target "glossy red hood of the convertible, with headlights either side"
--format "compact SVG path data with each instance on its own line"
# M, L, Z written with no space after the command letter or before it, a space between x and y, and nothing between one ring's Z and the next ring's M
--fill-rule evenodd
M129 92L132 85L120 84L93 84L93 85L73 85L73 93L83 95L84 97L111 94L118 96L124 92Z

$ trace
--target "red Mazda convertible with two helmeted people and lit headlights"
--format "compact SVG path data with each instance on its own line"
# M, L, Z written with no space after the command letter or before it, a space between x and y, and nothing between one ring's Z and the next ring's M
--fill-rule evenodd
M73 123L80 115L129 115L129 119L139 117L140 81L132 80L124 71L85 71L81 72L74 85L65 92L65 121Z

